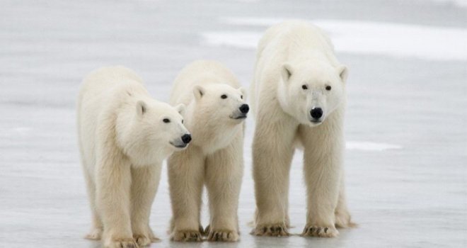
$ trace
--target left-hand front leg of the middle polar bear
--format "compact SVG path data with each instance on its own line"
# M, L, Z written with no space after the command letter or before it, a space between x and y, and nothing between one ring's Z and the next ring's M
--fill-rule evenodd
M171 193L171 240L180 242L202 241L200 210L204 182L204 156L190 146L175 152L167 162Z

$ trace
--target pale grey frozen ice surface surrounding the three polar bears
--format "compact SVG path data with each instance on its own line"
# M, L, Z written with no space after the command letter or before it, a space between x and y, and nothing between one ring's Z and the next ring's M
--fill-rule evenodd
M0 1L0 247L100 246L82 238L90 218L74 99L86 73L124 64L167 100L183 65L212 58L248 86L255 39L285 18L323 26L350 67L347 191L359 227L335 239L248 235L249 119L241 242L169 242L163 176L151 215L163 241L151 247L467 247L466 8L461 0ZM306 212L300 155L294 233Z

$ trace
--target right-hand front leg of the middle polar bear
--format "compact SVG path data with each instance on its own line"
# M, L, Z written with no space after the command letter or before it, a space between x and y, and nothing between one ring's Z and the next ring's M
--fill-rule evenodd
M206 187L210 222L207 240L238 241L238 196L243 176L243 137L207 157Z

